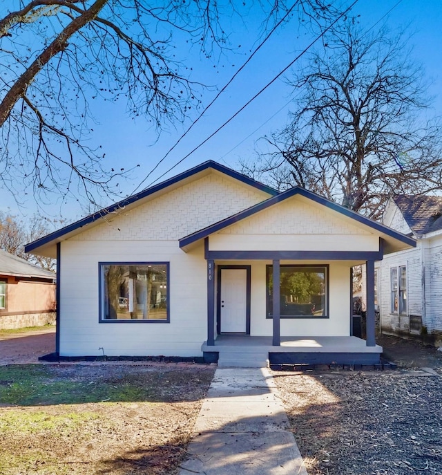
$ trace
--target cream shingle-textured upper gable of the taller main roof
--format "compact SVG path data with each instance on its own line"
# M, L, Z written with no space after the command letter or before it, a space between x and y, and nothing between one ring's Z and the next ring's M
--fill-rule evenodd
M177 240L268 197L253 187L212 173L130 211L122 209L71 240Z

